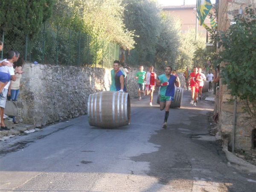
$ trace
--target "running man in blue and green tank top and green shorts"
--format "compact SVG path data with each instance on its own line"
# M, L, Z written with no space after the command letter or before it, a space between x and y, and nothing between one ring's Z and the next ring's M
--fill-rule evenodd
M160 87L160 110L163 111L165 109L165 117L163 122L163 128L167 128L167 119L169 116L170 105L174 99L175 94L175 85L177 87L177 91L180 91L180 79L178 76L174 76L172 73L172 67L167 66L165 69L165 74L158 76L157 86Z

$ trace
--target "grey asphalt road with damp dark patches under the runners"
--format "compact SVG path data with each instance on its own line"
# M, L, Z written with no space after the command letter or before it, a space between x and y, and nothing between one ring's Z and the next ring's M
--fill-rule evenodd
M228 163L209 136L213 103L171 109L131 100L131 124L90 127L87 116L0 143L0 191L255 192L256 175Z

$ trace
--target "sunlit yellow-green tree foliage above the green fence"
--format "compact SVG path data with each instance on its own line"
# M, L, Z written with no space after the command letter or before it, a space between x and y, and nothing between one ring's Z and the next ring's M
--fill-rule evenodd
M54 20L95 39L117 42L124 49L132 49L134 32L125 28L123 12L121 0L58 0Z

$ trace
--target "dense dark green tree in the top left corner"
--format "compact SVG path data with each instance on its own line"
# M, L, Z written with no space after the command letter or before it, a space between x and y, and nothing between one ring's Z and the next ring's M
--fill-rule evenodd
M23 49L25 37L35 38L41 24L51 17L55 0L1 0L0 34L5 49Z

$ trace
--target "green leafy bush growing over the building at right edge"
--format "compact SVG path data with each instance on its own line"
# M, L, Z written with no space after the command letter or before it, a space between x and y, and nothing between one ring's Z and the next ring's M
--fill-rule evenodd
M256 117L256 14L247 7L246 15L234 18L235 24L227 33L220 34L220 45L225 49L219 53L223 83L230 94L248 103L247 111Z

